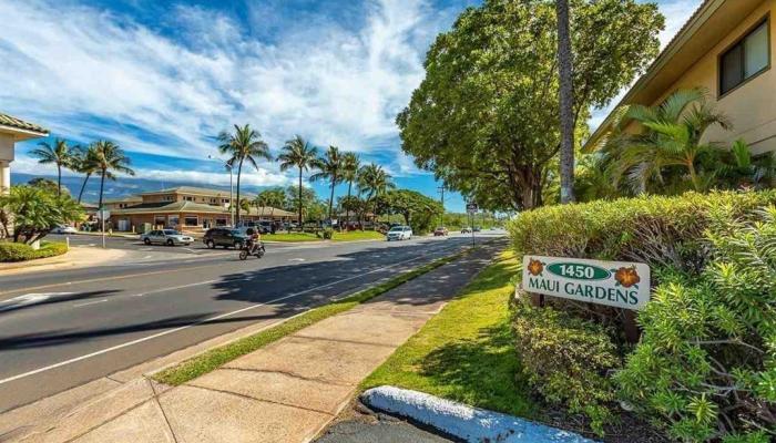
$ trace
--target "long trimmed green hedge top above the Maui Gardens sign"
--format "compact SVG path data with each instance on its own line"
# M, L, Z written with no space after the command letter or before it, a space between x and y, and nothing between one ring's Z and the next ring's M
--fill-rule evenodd
M776 190L643 196L543 207L522 213L508 229L519 256L643 261L700 271L707 259L703 237L714 208L728 207L741 217L773 204Z

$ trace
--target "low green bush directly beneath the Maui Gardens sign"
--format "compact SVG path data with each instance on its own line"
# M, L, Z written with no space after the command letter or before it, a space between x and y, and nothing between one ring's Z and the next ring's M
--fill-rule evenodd
M531 388L545 401L585 415L603 435L603 426L614 419L610 403L615 391L607 374L621 365L605 328L525 300L513 303L512 324Z

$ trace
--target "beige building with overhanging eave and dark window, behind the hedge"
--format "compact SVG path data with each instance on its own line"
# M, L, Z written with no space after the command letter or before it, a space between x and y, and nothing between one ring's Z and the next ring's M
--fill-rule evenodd
M772 12L776 0L705 0L620 105L656 105L677 90L704 87L733 123L707 142L746 141L753 154L776 151L776 73L772 70ZM596 147L609 115L585 143Z

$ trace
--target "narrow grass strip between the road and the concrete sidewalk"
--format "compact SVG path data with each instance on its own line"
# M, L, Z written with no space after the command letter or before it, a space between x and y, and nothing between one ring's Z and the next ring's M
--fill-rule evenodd
M413 278L417 278L445 264L448 264L461 257L463 254L466 254L466 251L457 253L455 255L433 260L430 264L404 272L380 285L358 291L341 300L337 300L331 303L310 309L307 312L304 312L303 315L293 317L272 328L242 338L232 343L205 351L204 353L196 356L192 359L185 360L175 367L165 369L153 374L152 379L161 383L171 385L178 385L190 380L194 380L200 375L204 375L211 371L214 371L215 369L218 369L221 365L226 364L232 360L256 351L286 336L289 336L296 331L307 328L308 326L312 326L314 323L317 323L320 320L353 309L367 300L370 300Z

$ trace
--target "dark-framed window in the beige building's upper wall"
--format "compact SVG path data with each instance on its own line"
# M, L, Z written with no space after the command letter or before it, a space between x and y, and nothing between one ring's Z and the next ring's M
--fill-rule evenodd
M770 66L768 23L765 20L719 56L719 94L724 95Z

